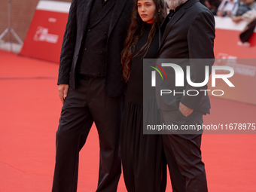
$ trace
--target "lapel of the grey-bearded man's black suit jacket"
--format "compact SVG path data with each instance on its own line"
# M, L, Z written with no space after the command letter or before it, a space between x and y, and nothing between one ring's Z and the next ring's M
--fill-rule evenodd
M172 29L172 26L179 20L179 18L182 17L182 15L183 15L184 13L185 13L185 11L184 11L184 6L182 6L182 7L177 11L177 13L175 13L175 14L172 16L172 19L169 21L169 23L167 23L166 29L165 29L164 32L163 32L163 38L162 38L161 41L160 41L160 47L159 47L158 53L160 52L160 49L163 47L163 42L165 41L167 35L169 34L169 31Z

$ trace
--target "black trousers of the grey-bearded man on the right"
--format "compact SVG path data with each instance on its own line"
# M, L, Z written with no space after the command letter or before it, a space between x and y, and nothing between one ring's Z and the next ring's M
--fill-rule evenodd
M161 124L199 125L203 123L203 112L193 111L185 117L181 111L161 111ZM168 132L167 132L168 133ZM173 192L208 192L205 164L201 156L202 133L163 134L163 148L169 167ZM184 133L195 133L187 131Z

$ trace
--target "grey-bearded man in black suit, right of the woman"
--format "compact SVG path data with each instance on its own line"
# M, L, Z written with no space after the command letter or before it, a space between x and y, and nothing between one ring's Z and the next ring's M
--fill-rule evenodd
M190 59L190 62L180 62L178 65L186 71L190 65L190 79L201 83L205 79L205 66L208 62L196 62L193 59L212 59L215 38L214 17L199 0L168 0L170 10L166 20L160 26L160 59ZM203 114L209 114L209 97L202 91L197 96L184 93L187 90L207 90L207 86L192 87L184 82L184 87L175 87L175 72L168 76L169 90L179 94L157 96L161 109L163 123L181 125L196 125L203 123ZM184 76L186 77L186 76ZM166 81L165 81L166 82ZM160 87L167 84L163 82ZM157 88L158 89L158 88ZM192 93L191 93L192 94ZM163 134L163 145L169 172L172 180L172 190L175 192L206 192L206 171L201 157L202 132L196 134ZM176 134L177 133L177 134Z

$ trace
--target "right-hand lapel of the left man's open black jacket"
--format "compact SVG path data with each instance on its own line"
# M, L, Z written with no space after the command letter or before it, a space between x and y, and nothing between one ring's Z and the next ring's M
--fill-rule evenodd
M114 11L109 25L108 37L114 29L114 26L117 23L117 20L120 17L120 14L122 13L125 4L126 0L116 0L116 3L114 5Z

